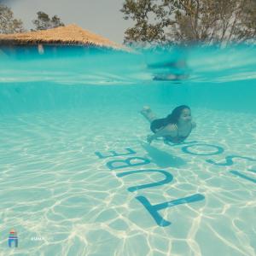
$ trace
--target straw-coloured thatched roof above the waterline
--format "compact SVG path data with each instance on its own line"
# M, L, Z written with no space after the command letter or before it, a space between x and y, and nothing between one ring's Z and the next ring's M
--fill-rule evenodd
M122 49L122 45L115 44L108 38L96 35L83 28L71 24L36 32L22 32L15 34L0 34L0 45L81 45L99 46Z

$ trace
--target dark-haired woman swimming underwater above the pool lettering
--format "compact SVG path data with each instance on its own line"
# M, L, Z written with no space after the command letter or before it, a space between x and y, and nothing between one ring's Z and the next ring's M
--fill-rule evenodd
M196 126L191 118L191 110L186 105L174 108L172 113L164 119L157 119L148 106L143 107L141 113L150 123L151 131L154 132L153 135L148 135L148 143L158 137L163 137L166 142L183 143Z

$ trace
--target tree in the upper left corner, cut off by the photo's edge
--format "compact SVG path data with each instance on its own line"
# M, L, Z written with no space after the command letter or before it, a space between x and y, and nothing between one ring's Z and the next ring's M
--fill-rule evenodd
M0 4L0 33L9 34L24 31L22 21L14 18L14 13L9 7Z

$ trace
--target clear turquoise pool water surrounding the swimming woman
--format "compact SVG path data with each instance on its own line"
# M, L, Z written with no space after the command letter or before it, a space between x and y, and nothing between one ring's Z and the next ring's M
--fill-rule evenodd
M255 255L255 56L2 52L0 255ZM195 131L148 145L180 104Z

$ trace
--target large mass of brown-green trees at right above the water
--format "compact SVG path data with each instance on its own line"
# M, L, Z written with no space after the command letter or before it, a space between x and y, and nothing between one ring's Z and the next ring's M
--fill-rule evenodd
M255 0L125 0L120 11L135 21L126 44L227 44L256 35Z

